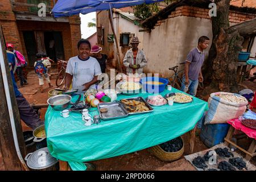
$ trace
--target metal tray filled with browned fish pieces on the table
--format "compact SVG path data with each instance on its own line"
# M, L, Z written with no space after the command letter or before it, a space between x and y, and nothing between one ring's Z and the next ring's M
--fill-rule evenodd
M119 101L130 115L150 113L154 109L142 97L126 98Z

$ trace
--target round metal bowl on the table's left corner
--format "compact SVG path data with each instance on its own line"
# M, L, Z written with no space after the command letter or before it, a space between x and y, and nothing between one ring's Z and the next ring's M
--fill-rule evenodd
M61 94L48 98L47 104L50 105L54 110L64 110L66 107L68 107L71 99L71 96Z

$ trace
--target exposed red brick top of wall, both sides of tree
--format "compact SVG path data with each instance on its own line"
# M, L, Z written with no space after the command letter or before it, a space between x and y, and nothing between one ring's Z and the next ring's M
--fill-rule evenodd
M174 18L176 16L191 16L196 18L210 19L210 16L208 15L208 13L209 13L209 9L202 9L199 7L191 7L191 6L180 6L180 7L177 7L175 11L172 11L172 13L168 15L168 18ZM230 23L241 23L245 20L250 20L253 18L256 18L256 14L242 13L238 11L229 11ZM160 26L160 24L163 22L164 20L158 20L155 26Z

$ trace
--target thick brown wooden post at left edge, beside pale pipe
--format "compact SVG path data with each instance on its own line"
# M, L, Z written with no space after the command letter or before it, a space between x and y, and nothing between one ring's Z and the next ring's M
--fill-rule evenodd
M6 56L5 42L3 40L3 32L1 28L0 28L0 41L2 45L2 51L3 51L0 53L3 53L3 57L5 60L6 75L7 75L8 85L10 90L11 105L13 106L16 134L18 137L20 152L24 158L24 156L26 155L26 147L24 143L22 126L19 118L19 110L16 103L16 97L14 94L13 82L11 79L9 63ZM5 170L22 170L23 167L22 167L22 164L20 163L20 160L18 158L15 145L14 145L13 132L11 129L9 109L7 107L6 94L5 94L5 89L3 85L3 77L2 77L1 69L0 69L0 98L1 98L1 101L0 101L0 108L1 108L0 109L0 152L2 154L4 168Z

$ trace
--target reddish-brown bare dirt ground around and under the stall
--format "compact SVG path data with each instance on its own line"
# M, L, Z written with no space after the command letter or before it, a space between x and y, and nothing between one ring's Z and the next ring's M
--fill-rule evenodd
M56 69L52 69L51 73L56 73ZM51 83L53 88L56 88L55 85L55 77L51 78ZM255 83L247 83L246 85L250 85L249 88L256 90ZM254 88L253 88L254 87ZM30 70L28 72L28 85L25 85L23 88L19 88L20 92L22 92L23 96L26 97L27 101L30 104L46 104L48 99L48 91L53 88L48 88L47 84L44 84L44 93L40 93L39 89L39 81L38 76L34 73L34 70ZM44 121L44 114L46 113L46 108L40 111L40 118ZM23 131L31 130L27 127L23 122ZM175 162L162 162L154 155L150 154L147 149L141 150L138 152L134 152L131 154L121 155L114 158L96 160L89 163L94 164L96 166L96 170L179 170L179 171L192 171L195 170L193 166L184 159L184 155L189 154L189 134L184 134L183 136L185 147L184 154ZM246 146L248 144L246 139L238 141L238 144L242 144ZM196 131L196 141L194 152L199 152L207 149L203 142L200 140L200 129ZM242 152L240 152L243 156L245 156ZM256 158L251 159L251 163L256 164Z

